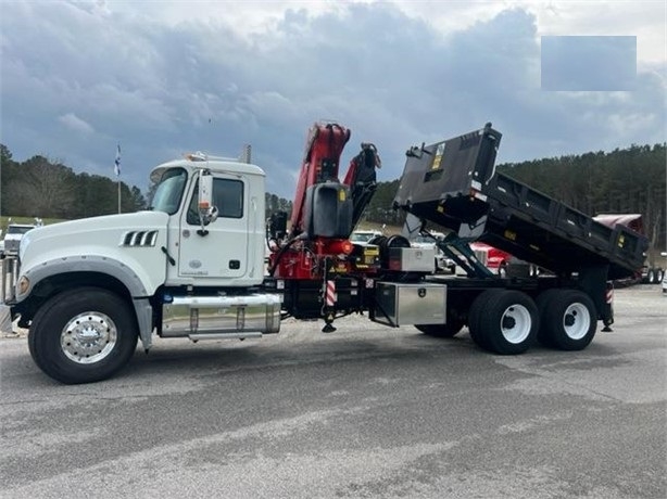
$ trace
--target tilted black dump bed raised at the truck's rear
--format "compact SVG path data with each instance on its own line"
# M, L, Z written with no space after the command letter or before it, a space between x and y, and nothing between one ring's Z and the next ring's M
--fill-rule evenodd
M649 241L592 217L495 171L501 133L483 129L407 151L394 207L555 273L608 265L627 277L644 260Z

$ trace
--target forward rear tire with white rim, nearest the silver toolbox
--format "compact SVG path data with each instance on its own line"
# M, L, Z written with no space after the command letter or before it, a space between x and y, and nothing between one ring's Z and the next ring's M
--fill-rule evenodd
M500 355L518 355L530 348L540 322L532 298L519 291L499 290L488 294L470 330L479 344Z

